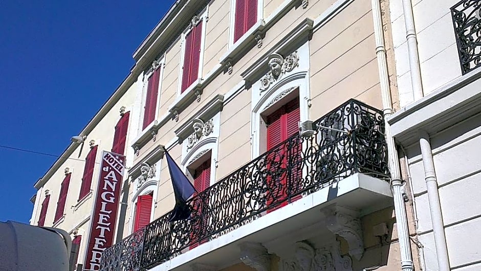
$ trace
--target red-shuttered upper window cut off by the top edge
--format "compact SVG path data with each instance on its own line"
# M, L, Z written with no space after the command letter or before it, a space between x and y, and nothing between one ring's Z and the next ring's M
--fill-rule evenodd
M257 0L235 0L234 43L257 22Z

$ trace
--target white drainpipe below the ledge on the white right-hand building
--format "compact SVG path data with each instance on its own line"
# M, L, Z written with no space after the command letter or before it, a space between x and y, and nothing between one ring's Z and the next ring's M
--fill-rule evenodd
M429 209L431 211L432 233L434 235L434 245L436 246L436 258L438 259L438 270L449 271L451 268L449 266L448 247L444 233L438 180L436 178L436 171L434 170L434 160L432 158L429 135L426 131L419 131L419 138L421 155L423 156L424 178L428 192Z

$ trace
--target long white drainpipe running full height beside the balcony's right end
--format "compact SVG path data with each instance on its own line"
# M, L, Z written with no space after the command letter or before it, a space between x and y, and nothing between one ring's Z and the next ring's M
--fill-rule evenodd
M392 99L389 86L389 74L387 72L386 48L384 45L384 32L382 26L382 13L380 0L372 0L374 35L376 38L376 56L378 59L379 80L381 85L381 95L383 104L384 120L392 115ZM398 228L399 246L401 252L401 268L403 271L414 270L412 262L411 245L409 242L409 230L407 224L406 206L402 192L401 169L399 166L398 151L396 144L391 136L389 123L385 121L385 133L387 151L389 156L389 169L391 172L391 188L394 199L394 209L396 213L396 226Z

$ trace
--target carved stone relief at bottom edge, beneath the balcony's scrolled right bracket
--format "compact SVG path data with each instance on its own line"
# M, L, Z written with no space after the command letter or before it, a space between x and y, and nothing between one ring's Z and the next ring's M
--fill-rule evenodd
M318 250L307 242L297 242L295 250L295 257L282 261L282 271L353 271L353 261L341 256L338 241Z

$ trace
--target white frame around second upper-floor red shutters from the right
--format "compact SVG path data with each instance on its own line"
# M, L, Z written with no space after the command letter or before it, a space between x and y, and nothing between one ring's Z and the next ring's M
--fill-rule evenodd
M199 72L197 75L197 80L194 81L190 86L188 86L185 91L182 93L182 79L184 76L184 58L185 58L185 38L187 35L192 31L193 27L188 27L184 33L182 33L182 39L181 39L181 58L180 58L180 65L179 65L179 79L177 80L177 97L185 96L188 93L192 91L192 89L195 88L197 84L199 84L202 81L202 75L204 73L204 53L205 53L205 36L206 36L206 29L207 29L207 21L208 21L208 5L207 7L200 13L199 16L199 21L197 24L199 24L200 21L202 21L202 34L201 34L201 54L199 57Z

